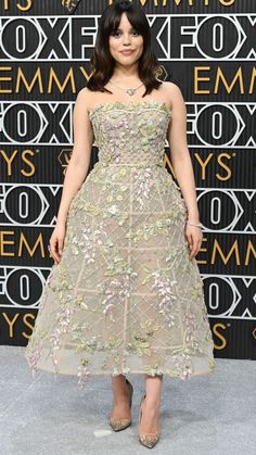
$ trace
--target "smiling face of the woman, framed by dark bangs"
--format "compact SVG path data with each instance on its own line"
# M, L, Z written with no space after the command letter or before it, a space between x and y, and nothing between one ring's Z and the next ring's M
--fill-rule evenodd
M143 37L132 27L126 13L121 14L119 27L110 36L110 52L124 66L136 63L143 52Z

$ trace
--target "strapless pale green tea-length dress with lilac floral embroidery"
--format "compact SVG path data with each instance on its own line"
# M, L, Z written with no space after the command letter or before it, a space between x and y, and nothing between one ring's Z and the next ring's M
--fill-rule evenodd
M214 370L213 337L187 208L163 165L171 112L157 101L90 112L99 162L68 211L26 346L33 370L189 379Z

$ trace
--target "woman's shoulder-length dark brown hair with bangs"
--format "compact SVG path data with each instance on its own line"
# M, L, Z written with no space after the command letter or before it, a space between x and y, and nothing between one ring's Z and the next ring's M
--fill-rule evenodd
M88 80L87 88L91 91L112 91L104 88L111 79L115 60L108 49L108 37L119 26L121 14L126 13L132 27L143 37L143 52L139 60L139 78L145 86L143 97L161 86L161 80L156 78L158 61L151 43L151 31L145 13L138 0L116 0L114 4L107 7L101 18L97 35L95 48L91 55L92 75Z

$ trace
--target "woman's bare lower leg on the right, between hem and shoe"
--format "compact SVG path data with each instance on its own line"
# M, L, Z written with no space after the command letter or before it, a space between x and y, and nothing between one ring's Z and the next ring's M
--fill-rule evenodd
M163 375L145 375L146 397L142 404L141 433L154 433L158 430L162 384Z

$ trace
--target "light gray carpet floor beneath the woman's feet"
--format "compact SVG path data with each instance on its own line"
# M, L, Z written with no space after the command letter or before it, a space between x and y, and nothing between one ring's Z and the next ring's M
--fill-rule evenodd
M4 455L131 455L149 453L137 437L143 376L135 387L131 427L107 424L111 378L84 390L74 376L38 371L33 382L25 347L0 346L0 453ZM151 450L171 455L256 454L256 362L217 358L214 375L164 377L162 437Z

